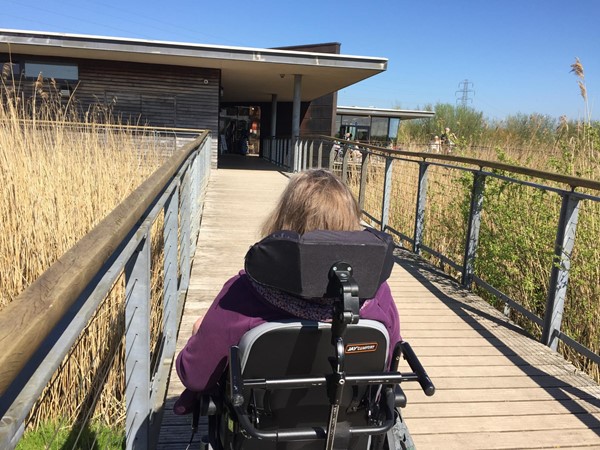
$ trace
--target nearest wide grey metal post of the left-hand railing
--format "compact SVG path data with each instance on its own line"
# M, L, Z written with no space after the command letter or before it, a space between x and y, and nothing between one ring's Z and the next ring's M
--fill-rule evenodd
M147 449L150 419L150 242L125 265L126 448Z

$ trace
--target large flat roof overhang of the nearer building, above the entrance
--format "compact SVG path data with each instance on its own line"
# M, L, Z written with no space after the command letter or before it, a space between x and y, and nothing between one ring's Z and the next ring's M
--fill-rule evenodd
M387 68L377 57L6 29L0 51L219 69L224 102L292 101L294 75L302 75L302 101L311 101Z

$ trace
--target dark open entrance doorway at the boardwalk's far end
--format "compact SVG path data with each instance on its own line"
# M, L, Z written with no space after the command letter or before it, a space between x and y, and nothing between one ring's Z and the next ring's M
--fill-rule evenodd
M223 106L219 113L219 153L260 153L260 107Z

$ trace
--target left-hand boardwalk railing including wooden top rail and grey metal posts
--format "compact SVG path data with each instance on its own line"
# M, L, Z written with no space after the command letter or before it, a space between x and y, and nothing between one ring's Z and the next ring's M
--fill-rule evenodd
M175 353L210 175L210 146L209 133L202 132L175 151L0 312L0 448L14 448L20 440L34 403L123 276L124 331L118 340L124 339L125 346L126 447L148 448ZM150 241L155 229L162 235L162 267L155 271L161 277L162 323L159 342L151 344Z

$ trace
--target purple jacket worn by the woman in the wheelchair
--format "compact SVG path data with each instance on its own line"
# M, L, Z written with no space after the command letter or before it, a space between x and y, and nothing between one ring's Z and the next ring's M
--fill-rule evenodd
M400 340L400 320L387 283L363 304L360 317L385 325L391 352ZM248 330L265 322L294 318L265 301L244 271L227 281L206 312L198 333L190 337L177 356L177 374L187 390L176 402L175 412L191 412L193 392L210 392L216 387L227 365L229 348L237 345Z

